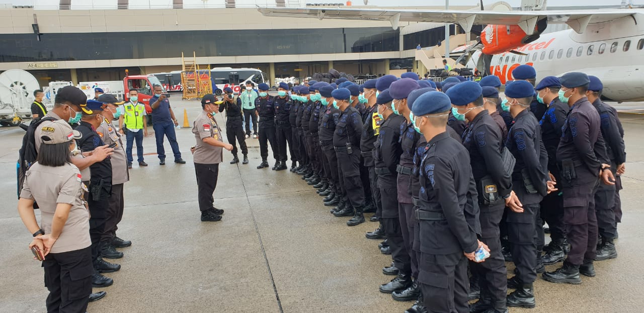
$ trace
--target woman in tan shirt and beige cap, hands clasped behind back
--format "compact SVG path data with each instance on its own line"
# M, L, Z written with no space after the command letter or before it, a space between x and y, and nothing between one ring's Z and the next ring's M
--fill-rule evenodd
M40 127L40 126L39 126ZM41 148L26 172L18 212L33 234L30 249L44 256L44 282L50 294L47 312L85 312L93 272L90 251L90 214L83 200L81 171L71 164L77 150L73 131L64 120L41 124ZM41 209L38 225L33 202Z

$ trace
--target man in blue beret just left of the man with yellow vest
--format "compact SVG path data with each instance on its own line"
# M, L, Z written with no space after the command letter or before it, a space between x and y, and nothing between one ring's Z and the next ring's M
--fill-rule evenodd
M344 182L344 189L350 204L335 216L352 216L346 225L355 226L365 222L363 209L365 207L365 191L360 180L360 135L363 123L360 112L349 104L351 92L340 88L331 93L334 100L333 106L341 111L337 120L336 131L333 134L333 146L336 150L337 164L340 167L340 180Z

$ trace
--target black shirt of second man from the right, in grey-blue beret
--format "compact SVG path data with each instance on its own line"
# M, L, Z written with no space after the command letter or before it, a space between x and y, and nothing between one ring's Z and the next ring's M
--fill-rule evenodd
M574 102L562 128L557 161L581 162L582 166L575 166L576 181L579 183L597 180L601 163L611 162L606 154L600 126L600 115L586 97Z

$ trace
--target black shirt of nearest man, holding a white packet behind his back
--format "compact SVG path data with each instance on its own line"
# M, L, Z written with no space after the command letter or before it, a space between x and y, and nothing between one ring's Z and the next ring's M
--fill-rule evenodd
M478 248L480 221L469 153L445 133L431 138L421 161L419 209L444 216L421 220L421 252L452 254Z

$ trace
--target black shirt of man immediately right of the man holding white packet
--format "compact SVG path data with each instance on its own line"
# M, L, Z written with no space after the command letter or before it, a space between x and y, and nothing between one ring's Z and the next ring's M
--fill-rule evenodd
M474 179L478 182L484 176L491 176L497 183L498 194L507 196L512 191L512 178L503 168L501 140L497 123L486 109L469 122L462 137L463 146L469 152Z

